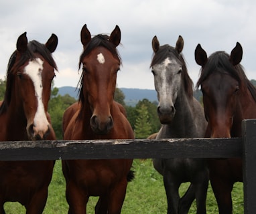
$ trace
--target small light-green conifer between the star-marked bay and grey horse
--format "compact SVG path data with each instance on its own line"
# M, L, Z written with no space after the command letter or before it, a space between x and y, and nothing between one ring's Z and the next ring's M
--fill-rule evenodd
M135 138L147 138L147 136L151 134L147 106L141 105L140 108L137 108L137 112L138 116L135 123Z

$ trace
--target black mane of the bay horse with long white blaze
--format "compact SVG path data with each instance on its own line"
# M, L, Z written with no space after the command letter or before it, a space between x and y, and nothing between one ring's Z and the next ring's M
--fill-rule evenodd
M39 43L36 40L29 41L29 43L27 43L27 50L25 53L21 54L19 62L16 62L17 50L15 50L13 54L11 54L7 65L5 98L3 100L3 104L0 107L0 114L7 110L7 107L11 101L13 76L16 74L17 68L25 64L27 60L35 60L37 58L36 54L40 54L50 64L50 66L54 67L55 70L58 70L56 62L52 57L52 53L47 49L46 45Z

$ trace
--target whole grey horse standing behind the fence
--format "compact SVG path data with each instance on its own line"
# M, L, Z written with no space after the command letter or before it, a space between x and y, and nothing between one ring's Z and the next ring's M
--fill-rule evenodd
M159 101L157 114L162 123L157 139L200 138L206 130L203 108L193 96L194 85L182 55L183 47L182 36L178 37L176 47L160 46L156 36L152 39L154 55L150 67ZM208 168L205 160L155 158L153 167L164 177L168 214L188 213L190 206L187 207L178 193L181 183L185 182L190 182L189 193L196 197L197 213L206 213Z

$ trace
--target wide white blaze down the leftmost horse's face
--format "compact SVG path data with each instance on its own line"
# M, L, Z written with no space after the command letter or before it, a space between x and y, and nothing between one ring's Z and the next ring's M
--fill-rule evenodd
M34 126L37 126L39 130L44 130L48 127L49 122L46 118L44 104L42 101L42 70L44 62L40 58L29 61L29 64L24 69L24 74L27 74L34 83L35 96L38 99L38 109L34 117Z

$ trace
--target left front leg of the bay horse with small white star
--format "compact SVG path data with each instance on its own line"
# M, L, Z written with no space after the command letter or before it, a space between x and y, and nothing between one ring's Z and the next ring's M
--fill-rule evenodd
M79 189L72 181L66 185L66 201L68 202L68 214L86 214L86 205L89 196Z

